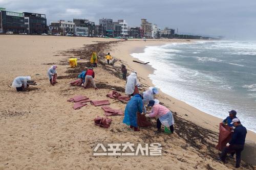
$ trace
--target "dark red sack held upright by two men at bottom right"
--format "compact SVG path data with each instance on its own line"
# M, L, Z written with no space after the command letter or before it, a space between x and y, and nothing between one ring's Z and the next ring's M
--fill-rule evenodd
M216 148L219 151L222 151L226 147L226 144L230 141L230 139L231 139L230 127L220 123L219 143L217 144Z

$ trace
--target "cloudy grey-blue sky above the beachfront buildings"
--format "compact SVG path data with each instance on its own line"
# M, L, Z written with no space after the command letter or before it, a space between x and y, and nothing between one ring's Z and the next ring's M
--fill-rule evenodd
M104 17L125 19L133 27L146 18L161 28L178 28L179 33L256 38L256 0L0 0L0 7L46 14L48 24L73 18L98 24Z

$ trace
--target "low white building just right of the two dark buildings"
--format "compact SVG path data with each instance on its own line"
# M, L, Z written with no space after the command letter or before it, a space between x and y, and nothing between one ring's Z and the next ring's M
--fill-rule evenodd
M74 22L72 21L65 21L65 20L58 20L58 21L51 21L51 25L49 26L49 33L51 35L67 35L74 33Z

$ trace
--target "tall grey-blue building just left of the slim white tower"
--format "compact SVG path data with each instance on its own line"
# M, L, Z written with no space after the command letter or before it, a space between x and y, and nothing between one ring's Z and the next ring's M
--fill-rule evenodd
M113 19L99 19L99 27L101 27L101 36L113 37Z

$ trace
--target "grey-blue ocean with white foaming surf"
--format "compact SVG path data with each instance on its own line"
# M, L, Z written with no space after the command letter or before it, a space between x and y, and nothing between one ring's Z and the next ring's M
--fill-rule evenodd
M236 110L256 132L256 42L171 43L131 55L150 62L149 77L164 93L223 119Z

